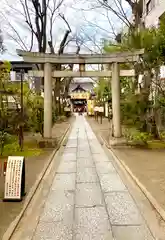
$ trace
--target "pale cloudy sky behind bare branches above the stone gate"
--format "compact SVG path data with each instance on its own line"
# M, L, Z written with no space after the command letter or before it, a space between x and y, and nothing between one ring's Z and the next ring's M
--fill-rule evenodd
M23 40L26 46L30 44L31 40L30 31L27 28L24 17L21 15L23 12L19 1L20 0L1 0L2 7L0 24L7 51L0 57L1 59L9 61L19 59L16 54L16 49L21 48L12 39L12 37L18 39L18 36L11 26L14 26L14 29L17 30L19 37ZM30 0L28 1L30 2ZM59 10L60 13L65 15L65 18L69 22L72 29L72 36L77 36L79 39L83 39L84 44L81 48L81 53L90 52L90 50L94 52L101 51L102 40L111 40L113 38L112 28L114 28L117 33L123 27L122 23L112 14L112 12L107 12L103 8L96 8L96 2L97 0L64 0ZM123 7L126 12L129 12L129 8L125 3L123 4ZM56 50L58 50L59 43L67 29L66 24L58 17L58 14L59 12L56 14L57 17L53 26L53 38ZM47 28L49 28L49 26ZM37 44L34 44L33 51L36 50ZM65 51L72 53L75 52L75 42L70 42Z

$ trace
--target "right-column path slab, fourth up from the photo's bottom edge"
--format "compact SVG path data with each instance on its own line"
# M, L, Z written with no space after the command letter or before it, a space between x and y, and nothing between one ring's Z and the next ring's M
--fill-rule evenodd
M116 173L116 170L111 162L96 162L96 170L98 174Z

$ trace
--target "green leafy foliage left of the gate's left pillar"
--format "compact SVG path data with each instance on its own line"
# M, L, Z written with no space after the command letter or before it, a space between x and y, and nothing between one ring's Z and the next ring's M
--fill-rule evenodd
M19 136L20 126L24 131L43 135L44 101L40 95L32 92L27 83L23 83L23 118L21 114L21 86L20 83L9 81L10 63L0 65L0 154L3 151L20 151L19 141L11 139L11 135ZM11 104L10 99L13 103ZM54 112L53 112L54 115ZM17 141L17 142L16 142ZM13 144L13 145L12 145ZM10 151L11 152L11 151Z

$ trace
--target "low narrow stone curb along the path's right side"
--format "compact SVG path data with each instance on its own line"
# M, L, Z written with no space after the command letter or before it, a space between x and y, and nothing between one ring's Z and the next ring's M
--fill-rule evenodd
M152 204L152 206L155 208L155 210L159 213L159 215L162 217L162 219L165 221L165 210L160 206L160 204L157 202L157 200L151 195L151 193L146 189L146 187L139 181L139 179L132 173L130 168L125 164L124 161L122 161L120 158L116 156L116 154L113 152L113 148L111 148L107 142L99 136L101 143L108 148L108 150L111 152L113 158L117 162L117 164L121 167L123 167L126 172L131 176L133 181L136 183L136 185L141 189L141 191L144 193L146 198L149 200L149 202Z

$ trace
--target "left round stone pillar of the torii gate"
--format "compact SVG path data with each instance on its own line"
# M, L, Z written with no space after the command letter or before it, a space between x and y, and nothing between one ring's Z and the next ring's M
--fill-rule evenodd
M44 138L52 137L52 66L44 64Z

